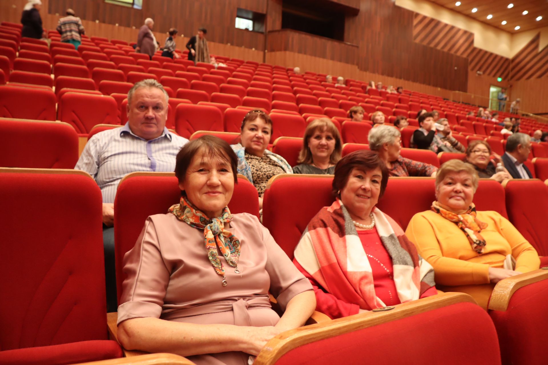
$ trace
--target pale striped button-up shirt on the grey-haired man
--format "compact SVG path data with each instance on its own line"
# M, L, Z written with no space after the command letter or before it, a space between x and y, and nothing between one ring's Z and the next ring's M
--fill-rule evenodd
M93 176L101 188L102 201L113 203L118 183L128 173L174 171L175 157L188 141L167 128L158 138L147 141L133 134L128 122L90 138L75 169Z

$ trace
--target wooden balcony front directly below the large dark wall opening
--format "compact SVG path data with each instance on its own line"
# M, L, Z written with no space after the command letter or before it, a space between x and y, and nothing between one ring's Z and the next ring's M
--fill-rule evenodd
M269 53L293 51L351 64L356 64L358 57L358 47L355 44L290 29L270 31L267 49Z

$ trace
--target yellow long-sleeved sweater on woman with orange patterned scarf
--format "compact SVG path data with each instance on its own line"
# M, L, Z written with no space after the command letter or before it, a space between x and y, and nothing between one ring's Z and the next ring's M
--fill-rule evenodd
M477 212L477 219L488 224L481 231L486 240L482 254L472 250L455 223L433 211L415 214L406 235L420 256L433 266L438 289L470 294L487 309L494 287L489 283L489 266L503 268L506 255L512 254L515 270L527 273L539 268L540 259L533 246L499 213Z

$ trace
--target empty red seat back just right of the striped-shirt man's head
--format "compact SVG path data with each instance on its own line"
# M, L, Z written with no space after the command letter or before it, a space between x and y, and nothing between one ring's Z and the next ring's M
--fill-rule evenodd
M221 111L213 106L179 104L175 111L177 134L190 138L194 132L201 130L224 131Z

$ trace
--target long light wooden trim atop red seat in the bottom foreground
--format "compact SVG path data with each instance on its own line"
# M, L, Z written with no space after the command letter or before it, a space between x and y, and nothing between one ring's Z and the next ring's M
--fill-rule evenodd
M414 316L434 309L456 303L473 303L476 301L464 293L442 293L412 302L395 305L391 310L369 311L336 320L316 323L316 325L295 328L282 332L270 339L257 356L254 365L271 365L296 347L322 339L373 327L390 321Z

